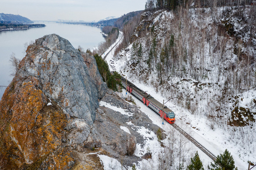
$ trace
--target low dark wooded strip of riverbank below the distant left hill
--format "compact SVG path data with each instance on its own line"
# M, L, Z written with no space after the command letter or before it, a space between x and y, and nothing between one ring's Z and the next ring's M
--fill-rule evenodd
M44 24L0 24L0 32L46 27Z

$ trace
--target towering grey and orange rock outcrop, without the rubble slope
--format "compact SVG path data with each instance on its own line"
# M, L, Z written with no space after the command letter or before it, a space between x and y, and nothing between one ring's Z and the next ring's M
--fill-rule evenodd
M92 123L106 84L94 58L56 34L26 52L0 101L0 158L6 169L71 169L76 145L101 146Z

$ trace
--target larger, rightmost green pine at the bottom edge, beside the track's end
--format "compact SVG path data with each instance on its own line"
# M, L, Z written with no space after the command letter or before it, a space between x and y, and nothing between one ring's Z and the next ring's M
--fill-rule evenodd
M217 160L214 161L214 164L211 163L208 165L208 169L210 170L238 170L235 167L235 162L228 150L226 149L223 154L217 156Z

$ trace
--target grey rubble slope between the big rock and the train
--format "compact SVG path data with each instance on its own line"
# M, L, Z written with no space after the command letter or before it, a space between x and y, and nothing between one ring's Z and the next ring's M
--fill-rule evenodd
M94 125L102 142L102 149L105 149L126 167L132 166L133 163L138 163L141 158L133 155L136 145L140 144L141 147L144 147L146 140L150 140L141 135L138 132L138 128L145 127L148 129L148 133L152 131L156 134L159 126L153 124L148 116L141 112L137 106L130 105L121 99L117 92L108 90L102 101L110 106L125 110L127 113L114 111L104 104L97 109ZM127 128L130 133L124 131L121 127Z

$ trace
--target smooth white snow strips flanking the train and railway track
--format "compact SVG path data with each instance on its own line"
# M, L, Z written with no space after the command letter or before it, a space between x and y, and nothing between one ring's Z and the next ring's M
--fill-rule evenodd
M109 55L107 57L107 61L113 60L112 55ZM117 71L121 68L123 68L123 64L125 61L117 60L114 61L114 64L116 66ZM110 62L108 62L110 64ZM110 68L111 69L111 68ZM130 80L130 79L129 79ZM161 94L156 92L154 90L154 87L148 87L145 86L141 81L133 79L130 80L132 83L137 85L140 89L143 89L144 91L147 91L151 96L156 98L158 101L165 100L167 101L167 98L162 97ZM123 90L123 94L126 95L126 91ZM128 96L131 96L128 93ZM140 107L142 112L146 113L149 118L153 121L154 124L160 126L162 129L164 129L167 134L170 131L176 131L170 124L167 122L162 125L162 119L159 117L158 114L154 113L151 109L146 107L142 102L137 100L134 96L132 96L133 99L135 100L137 106ZM209 126L209 120L207 120L205 117L202 117L201 115L196 115L196 114L191 114L187 109L183 107L178 107L175 106L171 102L167 102L165 104L167 107L171 108L175 114L176 114L176 124L183 130L185 130L188 134L190 134L193 138L195 138L201 145L206 147L210 152L212 152L215 156L219 155L220 153L222 154L225 149L228 149L228 151L233 155L235 165L238 167L239 170L246 169L248 164L248 160L254 160L255 155L254 154L241 154L240 153L240 147L238 144L232 142L229 140L228 135L226 135L225 130L215 127L214 130L212 130ZM112 108L116 109L116 108ZM146 133L145 129L141 129L140 134L148 138L150 135L153 135L154 133ZM176 133L177 134L177 133ZM152 136L150 136L152 137ZM152 137L153 138L153 137ZM139 145L137 145L135 155L137 156L142 156L144 152L146 151L146 148L149 147L151 151L154 151L152 153L152 162L155 162L155 165L158 163L158 152L161 151L161 146L159 142L157 141L157 137L155 136L153 138L154 140L148 140L144 148L140 148ZM190 142L191 143L191 142ZM213 162L212 159L210 159L206 154L204 154L199 148L194 146L192 143L191 145L188 145L190 151L191 151L191 157L193 154L198 151L199 157L203 162L203 165L205 169L207 168L207 165L210 164L210 162ZM144 151L143 153L140 153L140 151ZM146 161L146 160L144 160ZM147 161L146 161L147 162ZM141 169L146 163L140 162L140 165L137 166L137 169Z

